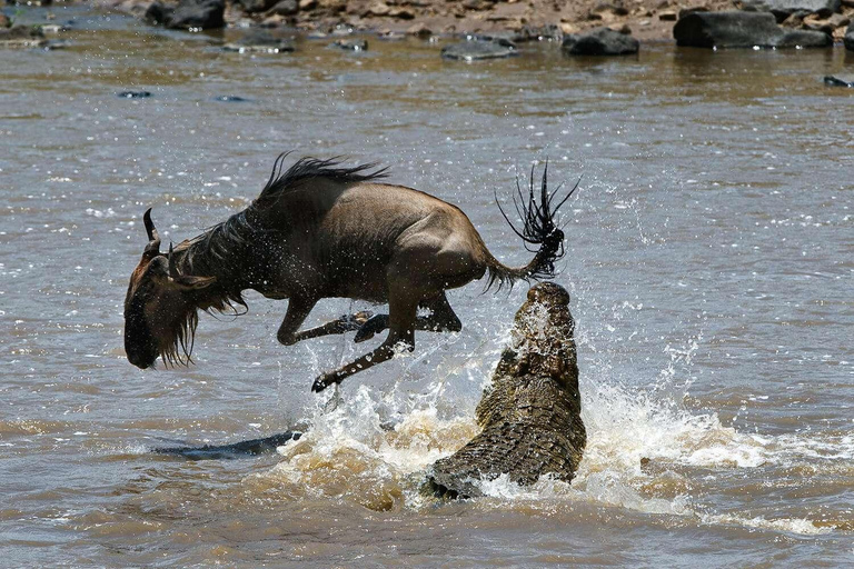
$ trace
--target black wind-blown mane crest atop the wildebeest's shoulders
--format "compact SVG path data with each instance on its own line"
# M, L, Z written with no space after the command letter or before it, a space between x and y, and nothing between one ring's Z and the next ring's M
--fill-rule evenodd
M281 172L285 159L290 152L282 152L276 158L270 172L270 179L267 186L261 190L261 194L252 203L252 208L266 208L275 203L282 193L295 189L302 180L310 178L328 178L341 183L367 182L386 178L387 168L376 170L376 162L354 167L341 167L341 157L337 156L327 160L305 157L297 160L294 166ZM373 172L368 170L374 170Z

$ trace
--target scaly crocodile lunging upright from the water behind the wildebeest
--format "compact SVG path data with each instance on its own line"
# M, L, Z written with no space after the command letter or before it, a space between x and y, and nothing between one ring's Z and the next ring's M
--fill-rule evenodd
M574 328L566 289L542 282L528 291L512 343L477 406L483 431L433 465L428 483L434 492L481 496L478 480L504 473L522 486L543 475L573 479L587 441Z

